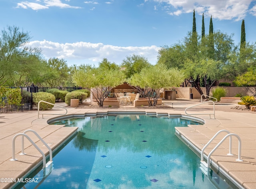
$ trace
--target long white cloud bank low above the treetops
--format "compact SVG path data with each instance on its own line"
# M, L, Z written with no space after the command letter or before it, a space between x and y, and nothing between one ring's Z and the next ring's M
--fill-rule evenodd
M104 45L102 43L88 43L76 42L60 44L50 41L32 41L28 44L32 47L39 47L42 49L42 54L46 59L49 58L63 58L70 60L72 64L95 64L107 58L110 62L120 64L126 56L137 54L144 56L151 64L157 61L159 48L157 46L143 46L143 47L120 47L112 45ZM74 63L75 62L75 63ZM70 66L72 65L70 64Z

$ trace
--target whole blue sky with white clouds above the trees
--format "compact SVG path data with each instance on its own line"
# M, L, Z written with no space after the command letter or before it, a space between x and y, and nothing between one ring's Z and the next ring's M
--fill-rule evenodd
M132 54L156 64L158 50L182 41L196 29L205 32L210 16L214 31L256 42L256 0L0 0L0 30L18 26L29 32L29 46L44 59L66 60L68 66L98 66L103 58L118 65Z

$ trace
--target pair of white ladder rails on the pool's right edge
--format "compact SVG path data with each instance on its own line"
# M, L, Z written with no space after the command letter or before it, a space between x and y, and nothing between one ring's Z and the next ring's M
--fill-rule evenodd
M210 153L208 154L208 156L206 156L207 159L207 163L204 161L204 150L206 149L206 147L217 137L217 135L219 133L222 132L226 132L228 133L225 137L223 137L223 139L214 147L214 149L212 149L212 151L210 151ZM234 133L230 133L227 130L220 130L218 131L213 137L212 139L210 139L210 141L203 147L202 151L201 151L201 160L200 160L200 169L202 170L202 172L204 173L204 175L208 175L209 171L210 171L210 157L212 155L212 153L214 153L214 151L224 142L224 140L226 140L226 138L229 137L229 153L227 155L233 155L232 154L232 136L236 137L238 139L238 159L236 159L236 161L243 161L241 159L241 139L237 134Z

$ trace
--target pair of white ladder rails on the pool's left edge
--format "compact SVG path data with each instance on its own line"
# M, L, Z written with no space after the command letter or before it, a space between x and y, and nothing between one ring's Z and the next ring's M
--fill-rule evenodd
M50 155L50 161L48 161L46 163L46 157L44 155L44 152L38 147L38 145L36 145L36 143L34 143L34 141L32 141L32 139L26 135L27 132L32 132L34 133L38 139L40 139L40 141L42 143L44 143L44 145L48 148L49 150L49 155ZM26 131L24 131L23 133L18 133L16 134L13 139L12 139L12 159L10 159L10 161L17 161L18 159L15 158L15 139L18 136L22 136L21 139L21 153L20 155L26 155L26 153L24 153L24 137L26 137L28 139L28 141L30 141L30 143L42 154L43 157L43 168L44 168L44 175L46 175L46 168L50 165L50 167L52 167L52 149L49 147L49 145L38 135L38 133L36 133L36 131L32 130L32 129L28 129Z

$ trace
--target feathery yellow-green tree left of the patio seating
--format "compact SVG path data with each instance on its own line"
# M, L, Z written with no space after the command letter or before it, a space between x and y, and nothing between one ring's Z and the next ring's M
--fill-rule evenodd
M110 64L106 59L103 61ZM99 64L102 65L101 63ZM104 65L106 65L105 63ZM74 72L72 81L76 86L90 90L98 105L103 106L103 102L110 91L124 83L125 74L119 68L106 69L106 66L99 66L98 68L83 66Z

